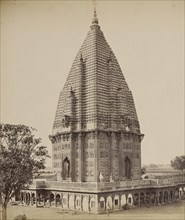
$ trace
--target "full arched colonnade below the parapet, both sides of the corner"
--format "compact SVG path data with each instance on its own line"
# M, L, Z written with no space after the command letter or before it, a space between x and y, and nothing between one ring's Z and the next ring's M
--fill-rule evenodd
M75 193L49 190L22 191L23 205L60 207L65 210L101 213L134 206L156 206L185 198L185 186L157 189L130 189L120 192ZM126 207L127 206L127 207Z

